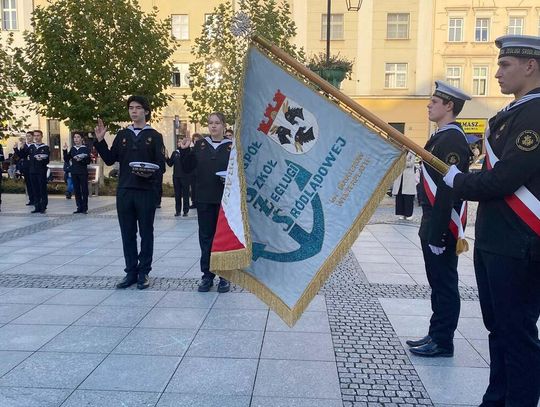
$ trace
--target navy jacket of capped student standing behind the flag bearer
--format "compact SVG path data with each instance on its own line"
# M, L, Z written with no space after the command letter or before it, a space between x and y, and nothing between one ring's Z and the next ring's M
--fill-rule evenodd
M461 127L457 122L449 124ZM455 164L461 171L469 171L471 150L465 136L458 130L448 129L436 132L424 148L448 165ZM418 201L423 213L418 234L428 244L444 247L449 243L449 237L452 234L448 228L452 208L459 213L462 201L455 199L452 189L444 183L441 174L429 165L425 165L425 168L437 185L437 195L432 207L426 196L422 175L417 186ZM455 242L453 236L451 239Z

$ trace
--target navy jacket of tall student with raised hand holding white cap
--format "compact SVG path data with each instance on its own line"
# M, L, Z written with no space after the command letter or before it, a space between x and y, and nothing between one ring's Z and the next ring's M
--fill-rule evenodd
M118 189L143 189L153 188L156 175L150 178L140 177L131 172L130 162L144 161L165 168L165 146L163 136L150 126L145 126L138 135L130 129L122 129L114 138L111 149L105 139L94 143L99 155L107 165L120 163L120 177Z

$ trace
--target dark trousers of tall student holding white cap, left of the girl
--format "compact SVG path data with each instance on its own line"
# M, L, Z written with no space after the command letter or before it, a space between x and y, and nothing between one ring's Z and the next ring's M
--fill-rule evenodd
M125 272L137 275L152 270L154 254L155 189L119 188L116 191L116 210L122 233ZM141 251L137 252L137 227L141 236Z

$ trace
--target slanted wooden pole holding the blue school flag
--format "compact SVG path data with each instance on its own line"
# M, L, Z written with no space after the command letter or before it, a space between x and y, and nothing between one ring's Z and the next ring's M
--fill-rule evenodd
M347 106L353 112L358 113L360 116L366 118L373 125L375 125L379 129L384 131L386 134L388 134L388 137L395 140L396 142L398 142L399 144L401 144L408 150L414 152L416 155L418 155L422 159L422 161L424 161L424 163L428 164L430 167L434 168L441 174L446 174L448 172L448 166L443 161L435 157L429 151L424 150L421 146L416 144L411 139L405 137L401 132L394 129L384 120L380 119L379 117L371 113L366 108L360 106L357 102L355 102L349 96L345 95L343 92L340 92L339 89L337 89L336 87L330 85L328 82L322 79L319 75L317 75L315 72L306 68L304 65L302 65L293 57L291 57L281 48L275 46L274 44L270 43L268 40L258 35L253 35L251 38L254 42L262 46L264 49L266 49L267 51L269 51L270 53L272 53L273 55L281 59L287 65L294 68L296 71L300 72L302 75L304 75L313 83L315 83L324 92L331 94L333 97L335 97L345 106Z

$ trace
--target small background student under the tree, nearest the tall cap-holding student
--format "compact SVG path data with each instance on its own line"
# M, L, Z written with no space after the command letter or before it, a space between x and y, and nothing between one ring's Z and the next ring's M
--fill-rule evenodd
M85 155L86 154L86 155ZM85 156L84 156L85 155ZM71 180L75 192L77 210L73 213L88 213L88 164L90 164L90 150L83 144L82 135L73 134L73 147L68 151L64 144L64 162L71 161Z

